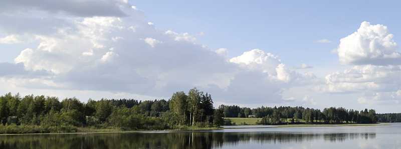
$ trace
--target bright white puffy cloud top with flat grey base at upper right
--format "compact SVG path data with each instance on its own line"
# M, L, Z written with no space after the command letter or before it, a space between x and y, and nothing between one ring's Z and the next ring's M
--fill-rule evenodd
M363 21L357 31L340 39L338 57L344 64L400 64L401 54L387 26Z

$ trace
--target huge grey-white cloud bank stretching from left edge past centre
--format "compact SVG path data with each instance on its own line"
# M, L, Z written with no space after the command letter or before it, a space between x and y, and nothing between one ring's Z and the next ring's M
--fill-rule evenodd
M13 34L30 34L38 42L21 51L15 58L18 70L12 71L48 73L28 78L3 74L0 78L20 87L147 96L168 96L196 86L232 103L247 99L282 102L283 88L315 78L286 67L278 56L262 49L228 58L227 49L211 50L197 44L189 33L156 29L134 8L121 10L126 17L49 16L49 21L61 19L63 25L47 26L52 31L46 33L32 31L36 26L12 30ZM0 24L0 30L6 28Z

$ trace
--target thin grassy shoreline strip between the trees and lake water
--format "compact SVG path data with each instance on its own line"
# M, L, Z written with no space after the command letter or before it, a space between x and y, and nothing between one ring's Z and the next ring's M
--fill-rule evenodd
M368 124L282 124L282 125L231 125L234 127L207 127L196 129L165 129L165 130L132 130L132 131L95 131L93 132L63 132L63 133L10 133L5 135L56 135L56 134L105 134L105 133L169 133L169 132L195 132L219 129L243 129L243 128L291 128L291 127L335 127L335 126L385 126L390 123L368 123ZM243 126L243 127L241 127ZM252 127L255 126L255 127Z

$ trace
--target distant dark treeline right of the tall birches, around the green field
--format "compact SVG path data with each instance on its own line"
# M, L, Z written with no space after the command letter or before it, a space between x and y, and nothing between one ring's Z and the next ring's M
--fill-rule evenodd
M302 106L290 107L240 107L237 105L220 105L225 117L259 117L260 124L284 123L376 123L377 116L374 109L361 111L330 107L320 109L305 108ZM301 122L302 121L302 122Z

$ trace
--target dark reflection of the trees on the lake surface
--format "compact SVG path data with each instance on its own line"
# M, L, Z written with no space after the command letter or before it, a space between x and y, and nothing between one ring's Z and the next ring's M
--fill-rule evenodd
M243 143L287 144L374 139L375 133L174 132L0 136L0 148L220 148Z

